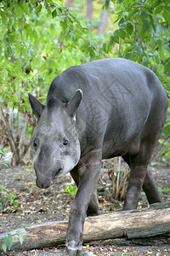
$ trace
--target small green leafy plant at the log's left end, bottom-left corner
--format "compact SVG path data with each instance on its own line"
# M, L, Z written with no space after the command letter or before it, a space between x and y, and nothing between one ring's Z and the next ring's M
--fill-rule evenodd
M3 252L6 253L7 249L10 250L10 248L13 245L13 236L19 236L20 244L23 243L23 237L20 235L19 232L15 232L14 234L7 233L7 236L5 236L4 239L0 240L0 248L2 248Z

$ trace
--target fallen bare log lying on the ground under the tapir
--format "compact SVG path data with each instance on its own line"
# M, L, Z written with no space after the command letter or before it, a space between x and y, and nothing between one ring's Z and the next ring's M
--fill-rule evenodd
M30 250L51 247L65 243L67 221L33 224L26 229L10 232L13 236L11 250ZM84 241L98 241L111 238L139 238L170 233L170 206L164 209L112 212L88 217L84 224ZM23 237L20 245L17 234ZM0 235L0 241L7 234Z

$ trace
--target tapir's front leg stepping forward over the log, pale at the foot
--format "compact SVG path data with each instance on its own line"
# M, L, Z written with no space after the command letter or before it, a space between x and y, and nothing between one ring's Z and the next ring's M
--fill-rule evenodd
M67 252L71 256L76 256L82 251L84 219L99 180L101 161L99 157L97 160L92 157L93 154L96 156L96 152L91 152L90 157L86 158L88 162L84 163L82 160L78 169L80 180L77 195L71 206L66 236Z

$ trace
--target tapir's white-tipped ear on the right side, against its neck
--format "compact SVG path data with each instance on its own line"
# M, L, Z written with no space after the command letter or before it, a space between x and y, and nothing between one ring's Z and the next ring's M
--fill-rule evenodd
M65 105L65 111L70 117L75 117L77 108L82 100L82 90L78 89L75 96Z

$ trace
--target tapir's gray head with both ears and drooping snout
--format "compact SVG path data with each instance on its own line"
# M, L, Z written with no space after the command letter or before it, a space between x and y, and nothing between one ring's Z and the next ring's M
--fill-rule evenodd
M77 90L68 103L50 98L42 105L28 94L37 127L32 135L31 155L37 175L37 187L46 189L54 177L70 172L80 159L80 143L76 128L77 108L82 90Z

